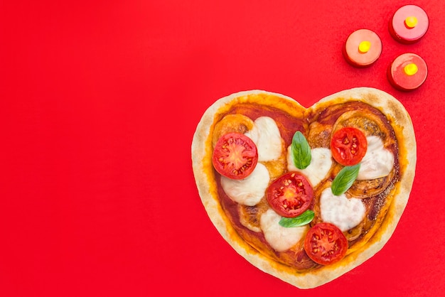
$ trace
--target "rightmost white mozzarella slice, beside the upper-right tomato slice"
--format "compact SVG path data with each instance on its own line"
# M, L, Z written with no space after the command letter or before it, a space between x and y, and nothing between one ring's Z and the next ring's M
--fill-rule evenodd
M366 137L368 149L360 162L357 180L373 180L382 178L392 171L394 154L383 146L378 136Z

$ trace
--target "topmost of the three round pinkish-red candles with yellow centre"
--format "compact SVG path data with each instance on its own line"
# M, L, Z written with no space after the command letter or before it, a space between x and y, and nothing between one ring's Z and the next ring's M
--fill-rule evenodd
M400 7L390 21L390 33L400 43L415 43L428 31L427 13L416 5Z

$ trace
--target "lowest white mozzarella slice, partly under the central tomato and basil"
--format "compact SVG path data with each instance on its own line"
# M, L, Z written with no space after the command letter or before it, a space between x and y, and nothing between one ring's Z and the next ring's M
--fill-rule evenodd
M281 219L282 217L271 209L264 212L259 219L264 238L277 252L284 252L294 247L304 237L309 228L308 225L291 228L282 227L279 225Z

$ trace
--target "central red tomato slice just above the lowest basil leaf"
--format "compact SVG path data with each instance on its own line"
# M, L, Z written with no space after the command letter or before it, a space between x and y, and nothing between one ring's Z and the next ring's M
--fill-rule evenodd
M282 217L297 217L311 206L313 188L296 172L288 172L274 180L266 190L269 205Z

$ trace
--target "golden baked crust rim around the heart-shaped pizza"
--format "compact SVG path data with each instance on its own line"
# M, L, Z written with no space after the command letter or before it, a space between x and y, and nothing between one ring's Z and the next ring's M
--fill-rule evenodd
M224 114L232 105L238 103L253 102L277 107L286 110L286 112L290 112L294 117L305 117L306 113L310 112L311 109L320 109L331 104L357 100L379 109L390 121L399 145L400 181L396 183L395 188L390 193L390 195L392 195L392 202L389 205L387 215L382 218L382 224L366 244L334 264L323 266L316 270L295 271L295 269L292 269L290 266L286 266L264 256L251 247L250 244L247 244L247 242L237 234L230 220L225 215L218 199L218 188L213 173L213 126L220 120L221 114ZM218 229L218 232L220 232L223 238L238 254L254 266L257 266L258 269L298 288L314 288L326 284L351 269L354 269L356 266L359 266L382 249L390 239L395 227L397 227L397 223L407 205L414 180L417 159L414 128L409 114L395 97L381 90L369 87L343 90L321 99L312 107L309 107L309 109L302 107L301 104L290 97L262 90L237 92L230 96L223 97L212 104L200 119L195 134L193 135L191 153L193 173L198 193L208 213L208 217L216 229Z

